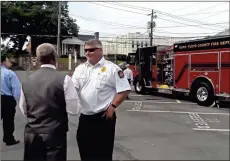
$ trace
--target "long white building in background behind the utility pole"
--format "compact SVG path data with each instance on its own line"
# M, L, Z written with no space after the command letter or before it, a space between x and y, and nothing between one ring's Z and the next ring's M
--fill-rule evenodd
M186 41L194 38L185 37L155 37L153 36L154 45L173 45L178 41ZM128 33L119 35L114 38L100 39L103 44L104 54L124 54L135 52L138 47L150 46L150 37L147 33Z

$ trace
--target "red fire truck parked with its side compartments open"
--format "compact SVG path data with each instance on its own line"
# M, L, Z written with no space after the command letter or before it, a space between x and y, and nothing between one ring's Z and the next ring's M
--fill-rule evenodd
M230 36L138 48L127 63L136 93L183 93L202 106L230 99Z

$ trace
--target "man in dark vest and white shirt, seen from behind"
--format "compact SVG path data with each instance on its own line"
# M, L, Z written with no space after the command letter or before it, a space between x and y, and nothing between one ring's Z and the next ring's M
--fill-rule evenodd
M36 55L41 68L22 83L19 107L27 118L24 160L67 159L68 115L77 115L78 93L68 75L56 71L56 51L44 43Z

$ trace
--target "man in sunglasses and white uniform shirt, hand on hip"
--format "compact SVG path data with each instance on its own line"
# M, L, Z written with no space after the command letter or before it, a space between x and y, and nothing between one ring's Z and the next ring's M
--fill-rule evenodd
M77 130L79 152L82 160L111 161L115 109L131 87L121 68L104 59L99 40L86 42L85 53L87 62L76 67L72 76L82 110Z

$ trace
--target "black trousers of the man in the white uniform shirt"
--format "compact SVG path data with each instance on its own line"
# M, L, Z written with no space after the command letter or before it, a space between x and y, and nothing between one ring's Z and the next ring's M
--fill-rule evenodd
M77 143L82 161L112 161L116 114L112 119L95 115L80 115Z

